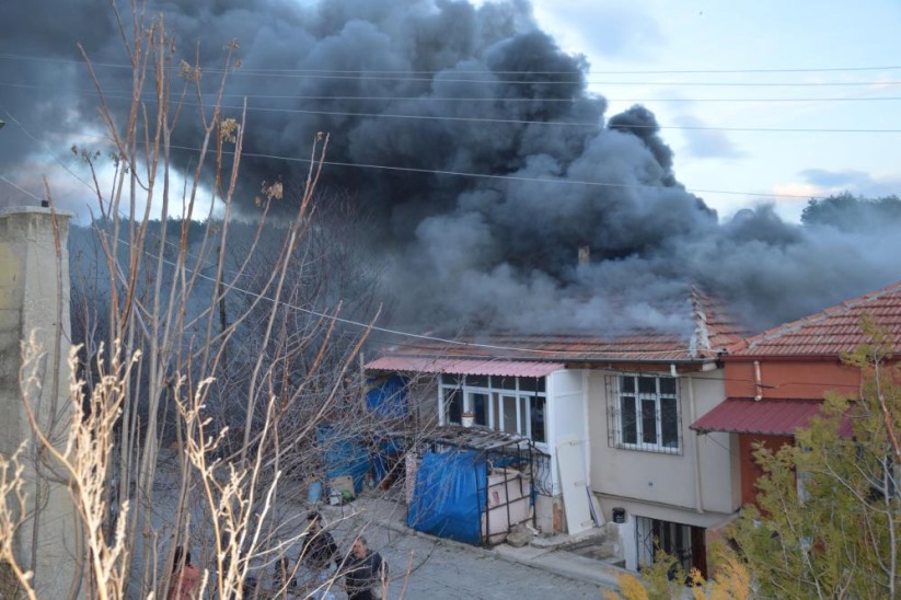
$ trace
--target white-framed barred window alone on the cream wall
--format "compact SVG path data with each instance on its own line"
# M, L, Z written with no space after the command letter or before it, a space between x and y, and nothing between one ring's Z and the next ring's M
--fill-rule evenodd
M682 451L677 380L646 374L608 378L612 446L648 452Z

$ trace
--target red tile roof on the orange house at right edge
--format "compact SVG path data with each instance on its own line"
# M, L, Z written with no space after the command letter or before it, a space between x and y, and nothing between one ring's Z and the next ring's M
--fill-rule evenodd
M901 281L744 341L733 356L839 356L871 342L860 319L871 314L901 353Z

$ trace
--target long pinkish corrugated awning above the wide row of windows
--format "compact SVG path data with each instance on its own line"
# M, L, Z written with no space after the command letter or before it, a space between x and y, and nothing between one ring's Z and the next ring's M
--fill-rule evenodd
M373 371L412 371L416 373L452 373L499 377L545 377L563 369L562 362L538 360L500 360L493 358L427 358L385 356L366 365Z

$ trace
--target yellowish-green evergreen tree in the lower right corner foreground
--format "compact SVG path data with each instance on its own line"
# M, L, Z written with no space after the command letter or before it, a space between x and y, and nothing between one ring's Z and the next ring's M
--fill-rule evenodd
M777 452L732 536L765 598L896 598L901 586L898 430L901 369L873 319L871 343L843 357L860 369L856 397L828 394L822 416Z

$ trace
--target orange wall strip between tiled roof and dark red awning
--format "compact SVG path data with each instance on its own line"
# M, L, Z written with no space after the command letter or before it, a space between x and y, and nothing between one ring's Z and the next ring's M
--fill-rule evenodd
M726 396L754 397L753 361L727 360L725 362ZM822 399L825 391L855 394L860 372L842 365L838 359L828 360L774 360L760 361L760 381L764 399Z

